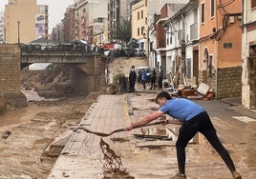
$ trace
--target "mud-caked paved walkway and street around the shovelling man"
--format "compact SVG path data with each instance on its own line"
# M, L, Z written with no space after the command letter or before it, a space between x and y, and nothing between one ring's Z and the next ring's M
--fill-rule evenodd
M158 109L159 90L101 95L80 126L109 133ZM224 147L244 179L256 176L255 112L220 100L195 100L207 109ZM245 114L250 115L245 115ZM254 118L253 118L254 117ZM164 119L165 117L163 117ZM166 116L166 119L170 119ZM178 171L176 134L179 127L152 126L99 137L77 130L58 157L48 178L169 178ZM186 148L189 179L230 179L220 155L199 135Z

